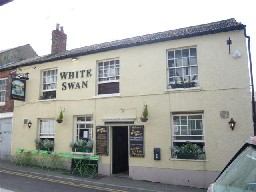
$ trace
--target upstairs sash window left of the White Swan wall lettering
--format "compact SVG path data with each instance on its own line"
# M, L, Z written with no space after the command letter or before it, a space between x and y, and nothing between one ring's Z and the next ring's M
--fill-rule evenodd
M55 99L57 88L57 69L43 71L42 99Z

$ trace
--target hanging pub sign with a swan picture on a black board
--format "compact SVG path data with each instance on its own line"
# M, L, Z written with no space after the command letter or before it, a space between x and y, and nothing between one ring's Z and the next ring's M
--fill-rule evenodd
M26 93L26 81L12 78L10 85L10 99L24 101Z

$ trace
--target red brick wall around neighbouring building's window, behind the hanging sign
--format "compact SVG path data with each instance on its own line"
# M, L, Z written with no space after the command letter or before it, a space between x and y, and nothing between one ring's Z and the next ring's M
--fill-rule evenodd
M9 73L14 70L16 70L16 69L0 71L0 78L8 77L5 105L0 106L0 113L13 112L14 100L9 99L10 98L10 80L11 80L11 76L9 75ZM12 74L16 74L16 72L13 72Z

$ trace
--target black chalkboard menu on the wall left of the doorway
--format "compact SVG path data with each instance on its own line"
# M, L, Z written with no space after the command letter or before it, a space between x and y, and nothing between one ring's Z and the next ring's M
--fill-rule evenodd
M96 154L108 155L108 126L96 126Z

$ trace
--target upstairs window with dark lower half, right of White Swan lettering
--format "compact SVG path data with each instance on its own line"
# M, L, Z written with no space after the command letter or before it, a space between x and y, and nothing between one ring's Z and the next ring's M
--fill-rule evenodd
M98 62L98 95L119 93L119 60Z

